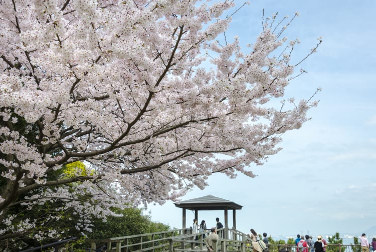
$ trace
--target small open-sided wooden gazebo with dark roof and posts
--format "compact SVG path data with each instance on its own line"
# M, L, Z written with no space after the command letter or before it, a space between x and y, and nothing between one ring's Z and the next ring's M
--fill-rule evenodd
M200 198L188 199L174 203L176 207L180 207L183 210L182 216L182 228L185 228L186 222L186 209L195 211L195 218L199 219L199 210L224 210L225 211L225 237L228 238L228 210L233 210L233 226L236 228L236 210L242 209L243 206L223 198L218 198L213 195L207 195Z

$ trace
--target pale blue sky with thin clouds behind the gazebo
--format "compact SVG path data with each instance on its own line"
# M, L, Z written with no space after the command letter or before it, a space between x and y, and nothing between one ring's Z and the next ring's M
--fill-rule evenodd
M311 121L283 136L281 152L251 168L256 178L215 175L206 189L195 188L182 200L212 194L243 205L237 228L244 232L363 232L376 225L376 1L254 0L234 17L227 37L238 35L243 45L252 44L263 8L265 16L300 13L284 34L301 40L296 59L323 37L318 52L301 66L308 74L286 90L286 97L299 100L320 87L319 105L309 111ZM173 202L148 210L152 220L181 227L181 209ZM224 218L222 211L202 211L199 221L213 226L217 216ZM187 212L187 226L193 218Z

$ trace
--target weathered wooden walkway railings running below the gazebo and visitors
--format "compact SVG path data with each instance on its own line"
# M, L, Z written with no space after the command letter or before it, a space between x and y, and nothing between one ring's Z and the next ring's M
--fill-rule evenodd
M218 229L218 231L224 228ZM228 239L213 240L213 252L252 252L252 242L247 234L234 228L228 230ZM206 231L206 236L210 231ZM145 233L108 239L87 240L91 252L106 246L106 252L202 252L208 251L202 233L199 240L192 229L174 229L163 232ZM300 251L299 251L300 250ZM288 244L268 244L268 252L302 252L301 248ZM311 252L311 248L308 249ZM328 245L327 252L360 252L360 245Z

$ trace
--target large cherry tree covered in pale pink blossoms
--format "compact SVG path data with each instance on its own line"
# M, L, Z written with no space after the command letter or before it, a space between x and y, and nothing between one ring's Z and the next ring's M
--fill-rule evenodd
M236 8L0 1L0 240L64 236L68 212L85 233L111 207L178 200L214 173L254 177L316 102L272 105L300 75L296 41L273 16L249 48L221 43Z

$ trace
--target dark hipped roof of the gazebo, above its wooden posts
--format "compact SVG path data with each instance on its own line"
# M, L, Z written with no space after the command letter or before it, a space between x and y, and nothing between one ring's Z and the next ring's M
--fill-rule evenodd
M242 209L243 206L223 198L207 195L174 203L176 207L189 210L225 210Z

